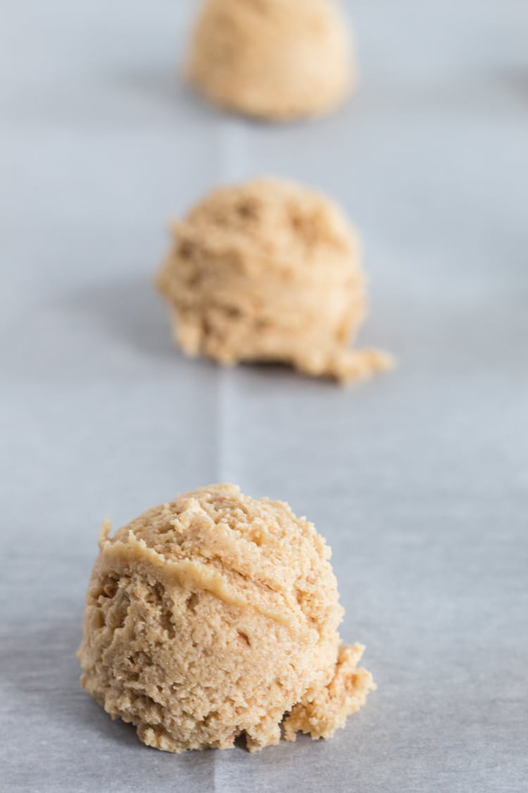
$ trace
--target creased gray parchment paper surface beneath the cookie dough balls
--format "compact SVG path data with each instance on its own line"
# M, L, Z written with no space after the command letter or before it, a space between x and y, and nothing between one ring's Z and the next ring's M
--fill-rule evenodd
M283 127L178 82L194 3L3 9L2 791L525 791L528 4L350 2L359 94ZM166 224L260 173L343 203L397 373L173 348ZM328 538L379 690L332 741L174 757L79 688L85 587L105 516L226 480Z

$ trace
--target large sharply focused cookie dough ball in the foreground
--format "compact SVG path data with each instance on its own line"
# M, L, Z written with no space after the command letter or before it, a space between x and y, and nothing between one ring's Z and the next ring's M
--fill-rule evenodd
M105 525L82 685L167 752L331 737L374 688L341 647L330 550L287 504L212 485Z

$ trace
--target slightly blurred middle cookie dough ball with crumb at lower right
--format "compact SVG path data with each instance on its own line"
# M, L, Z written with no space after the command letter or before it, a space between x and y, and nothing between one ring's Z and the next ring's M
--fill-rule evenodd
M186 354L339 381L390 366L385 353L348 349L367 308L359 243L319 193L263 179L215 190L173 237L158 288Z

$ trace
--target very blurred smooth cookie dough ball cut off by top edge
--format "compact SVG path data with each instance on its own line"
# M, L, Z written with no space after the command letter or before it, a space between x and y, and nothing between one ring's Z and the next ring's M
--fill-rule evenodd
M188 77L212 102L270 120L326 113L354 85L334 0L207 0Z

